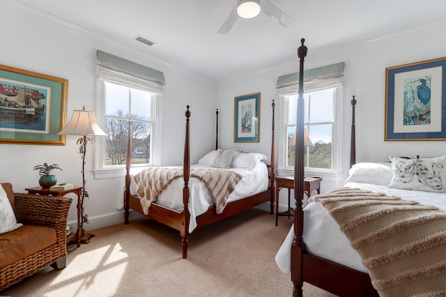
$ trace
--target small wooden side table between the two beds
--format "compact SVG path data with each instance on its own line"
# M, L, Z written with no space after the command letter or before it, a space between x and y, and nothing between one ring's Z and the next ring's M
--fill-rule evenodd
M307 197L311 197L312 191L317 190L318 194L321 194L321 181L322 178L320 177L307 177L305 176L304 180L304 191L307 194ZM288 189L288 210L279 213L279 191L282 188ZM277 218L279 216L288 216L290 218L293 216L293 208L291 208L290 205L290 199L291 199L291 189L294 189L294 176L277 176L276 177L276 226L277 226Z

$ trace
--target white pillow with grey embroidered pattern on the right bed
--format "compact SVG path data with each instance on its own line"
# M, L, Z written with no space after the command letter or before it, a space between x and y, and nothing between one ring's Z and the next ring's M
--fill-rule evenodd
M403 159L391 155L390 188L446 192L446 155L437 158Z

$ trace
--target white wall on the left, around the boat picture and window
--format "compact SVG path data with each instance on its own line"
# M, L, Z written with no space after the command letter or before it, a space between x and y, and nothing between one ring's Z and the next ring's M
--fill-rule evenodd
M23 8L9 1L0 2L0 26L3 30L0 64L36 73L68 79L67 118L73 109L85 105L96 107L96 50L102 50L155 68L164 73L166 86L162 102L162 158L161 165L182 164L185 135L185 110L192 112L191 159L194 162L215 146L213 123L217 84L201 75L182 68L160 63L147 52L136 52L89 31ZM100 115L97 115L100 119ZM0 144L0 181L10 182L16 192L38 186L38 172L33 166L43 162L57 163L63 172L54 172L59 181L82 183L82 160L77 137L67 136L66 146ZM122 204L124 177L95 179L93 176L94 142L86 155L86 189L90 199L84 201L90 224L85 229L96 229L107 224L123 222ZM72 196L75 198L75 196ZM68 220L75 225L76 201L72 202Z

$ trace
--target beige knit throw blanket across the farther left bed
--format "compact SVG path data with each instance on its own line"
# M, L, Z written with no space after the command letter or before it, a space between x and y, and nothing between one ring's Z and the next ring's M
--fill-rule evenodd
M242 176L224 169L190 169L190 176L199 178L209 190L215 203L217 213L222 213L229 195L236 188ZM175 178L183 177L183 169L167 167L150 167L134 175L137 183L137 194L146 215L148 208Z

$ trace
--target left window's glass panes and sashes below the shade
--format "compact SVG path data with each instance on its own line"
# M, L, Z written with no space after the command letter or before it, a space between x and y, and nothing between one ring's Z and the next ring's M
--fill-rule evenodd
M104 84L108 134L105 143L105 166L125 165L125 153L128 149L128 121L132 128L131 164L151 164L156 95L111 82L104 82Z

